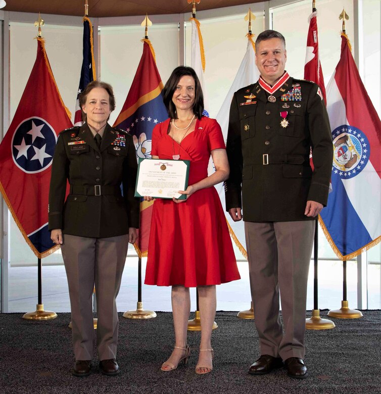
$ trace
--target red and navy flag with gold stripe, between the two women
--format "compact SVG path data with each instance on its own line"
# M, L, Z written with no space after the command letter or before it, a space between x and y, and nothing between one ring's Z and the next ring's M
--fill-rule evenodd
M114 123L133 135L136 157L151 158L151 140L154 126L168 119L161 91L164 87L156 67L154 50L150 40L144 39L143 54L137 66L123 108ZM135 249L139 257L148 254L153 202L140 203L140 229Z

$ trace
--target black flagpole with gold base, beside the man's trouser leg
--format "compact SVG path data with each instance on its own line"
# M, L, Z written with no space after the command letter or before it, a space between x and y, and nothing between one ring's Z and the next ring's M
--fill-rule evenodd
M316 13L315 0L312 0L312 13ZM316 18L316 16L315 16ZM315 81L316 83L318 81ZM314 237L314 279L313 279L313 310L312 316L306 319L306 329L308 330L328 330L335 328L335 323L329 319L322 319L320 317L320 310L318 307L318 217L315 220L315 237Z

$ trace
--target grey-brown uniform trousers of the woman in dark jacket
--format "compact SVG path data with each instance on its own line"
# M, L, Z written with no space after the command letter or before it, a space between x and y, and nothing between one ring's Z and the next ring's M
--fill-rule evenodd
M74 355L92 360L92 293L97 297L97 350L100 360L116 358L118 313L115 299L128 249L128 235L88 238L64 234L61 245L69 284Z

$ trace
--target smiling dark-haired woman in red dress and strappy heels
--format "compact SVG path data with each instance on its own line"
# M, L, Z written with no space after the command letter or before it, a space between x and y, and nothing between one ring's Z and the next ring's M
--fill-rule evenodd
M216 313L216 284L240 279L225 215L215 184L229 176L221 128L204 117L200 81L190 67L177 67L163 89L169 119L152 134L152 158L189 160L185 200L156 199L153 207L146 284L172 286L175 347L162 371L186 364L190 313L189 287L197 287L201 343L196 373L212 371L211 335ZM215 172L208 176L212 156ZM145 200L152 200L146 196Z

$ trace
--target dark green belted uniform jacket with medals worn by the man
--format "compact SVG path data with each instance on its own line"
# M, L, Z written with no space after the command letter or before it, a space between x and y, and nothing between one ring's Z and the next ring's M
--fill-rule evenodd
M313 220L304 215L306 203L326 205L333 157L324 101L318 85L292 77L272 94L274 102L269 95L259 82L234 93L226 210L243 208L249 222Z

